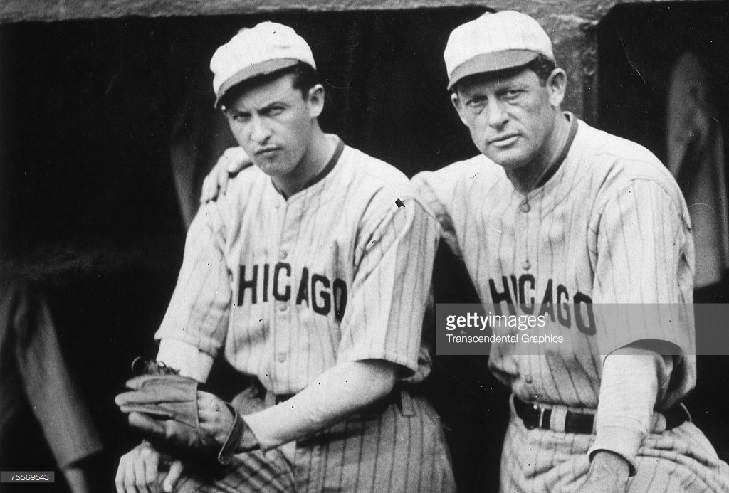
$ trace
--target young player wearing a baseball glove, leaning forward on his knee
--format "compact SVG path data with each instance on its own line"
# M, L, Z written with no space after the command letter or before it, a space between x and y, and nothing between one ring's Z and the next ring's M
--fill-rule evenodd
M222 477L192 473L189 456L161 473L167 457L143 443L120 460L118 492L454 488L440 422L418 393L437 221L402 173L322 132L315 69L308 44L268 22L211 59L215 104L253 165L190 226L157 359L204 382L225 357L257 377L265 405L198 390L187 398L193 441L201 460L226 464ZM155 421L139 382L117 398L130 423L156 443L182 441L179 402L155 403L171 417Z

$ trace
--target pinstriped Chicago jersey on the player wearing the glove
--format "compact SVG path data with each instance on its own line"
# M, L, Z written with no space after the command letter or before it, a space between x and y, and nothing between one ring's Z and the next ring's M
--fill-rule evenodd
M223 350L276 394L348 360L389 360L421 380L437 236L405 175L341 142L316 181L287 199L248 167L190 226L155 337Z

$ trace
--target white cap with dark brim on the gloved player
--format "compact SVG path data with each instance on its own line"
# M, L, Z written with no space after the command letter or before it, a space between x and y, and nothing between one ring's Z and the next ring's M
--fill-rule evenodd
M215 106L235 84L303 62L316 69L311 48L288 25L265 22L243 28L210 60Z

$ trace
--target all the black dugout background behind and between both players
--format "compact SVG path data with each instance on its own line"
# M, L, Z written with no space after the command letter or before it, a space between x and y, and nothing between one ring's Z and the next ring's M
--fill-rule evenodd
M324 130L413 175L475 154L445 90L441 54L451 29L481 12L0 25L0 252L8 275L48 293L64 355L101 430L110 482L120 454L139 441L113 398L133 357L155 355L152 334L182 260L171 142L190 144L195 190L221 146L233 142L211 108L215 48L243 25L292 25L310 42L325 81ZM725 124L729 86L718 67L729 61L727 27L725 4L614 9L598 30L600 126L663 157L666 73L685 44L712 53ZM642 54L644 79L625 46ZM475 300L464 269L443 248L434 283L437 301ZM725 458L728 360L700 358L689 402ZM429 382L462 491L496 491L498 481L508 393L486 363L438 357ZM228 375L217 368L219 382ZM36 435L13 445L28 454L29 469L52 469L39 443Z

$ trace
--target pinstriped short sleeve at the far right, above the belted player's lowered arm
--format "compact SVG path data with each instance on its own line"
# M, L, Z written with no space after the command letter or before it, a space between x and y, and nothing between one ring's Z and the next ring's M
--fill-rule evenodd
M669 343L679 354L695 353L693 240L677 186L628 181L590 233L600 354L639 341L658 342L658 352Z

